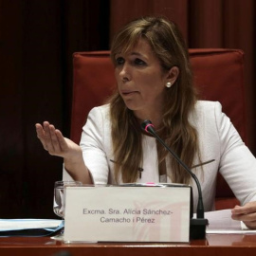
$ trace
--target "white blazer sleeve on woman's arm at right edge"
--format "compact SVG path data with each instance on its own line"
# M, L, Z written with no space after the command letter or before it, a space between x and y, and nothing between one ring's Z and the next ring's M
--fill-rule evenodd
M242 205L256 201L256 159L222 112L220 103L215 105L215 119L220 139L220 173Z

